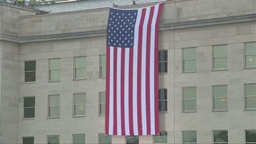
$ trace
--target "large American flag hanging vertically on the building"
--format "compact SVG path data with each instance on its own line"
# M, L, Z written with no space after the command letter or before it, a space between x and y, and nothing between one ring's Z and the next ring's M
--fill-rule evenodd
M159 133L159 20L162 3L109 11L105 134Z

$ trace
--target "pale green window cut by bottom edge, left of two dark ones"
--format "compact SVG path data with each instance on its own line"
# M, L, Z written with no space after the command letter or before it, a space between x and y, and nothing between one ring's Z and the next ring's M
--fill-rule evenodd
M196 130L182 131L182 143L183 144L196 144L197 143L197 131Z

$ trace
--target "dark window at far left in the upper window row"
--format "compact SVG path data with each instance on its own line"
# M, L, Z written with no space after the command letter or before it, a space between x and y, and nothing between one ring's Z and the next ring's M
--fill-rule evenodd
M25 65L24 66L25 82L34 82L35 81L35 70L36 70L35 60L25 61L24 65Z

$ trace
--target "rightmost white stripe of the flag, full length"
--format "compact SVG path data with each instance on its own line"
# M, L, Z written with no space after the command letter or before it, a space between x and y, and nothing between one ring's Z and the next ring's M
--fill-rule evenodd
M152 18L152 23L151 23L151 66L150 66L150 89L151 89L151 134L155 134L155 31L156 31L156 21L157 21L157 16L158 16L158 11L159 11L159 4L155 5L155 10ZM158 74L156 74L158 75ZM156 100L158 101L158 100Z

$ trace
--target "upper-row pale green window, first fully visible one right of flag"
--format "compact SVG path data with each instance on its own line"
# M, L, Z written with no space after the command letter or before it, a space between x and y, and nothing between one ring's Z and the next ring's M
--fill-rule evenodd
M184 73L197 72L197 48L182 49L182 65Z

